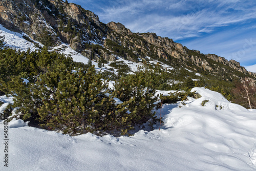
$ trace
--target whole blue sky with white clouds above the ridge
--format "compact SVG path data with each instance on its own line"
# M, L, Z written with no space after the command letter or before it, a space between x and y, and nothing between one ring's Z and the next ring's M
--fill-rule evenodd
M132 32L154 32L256 72L255 0L69 0Z

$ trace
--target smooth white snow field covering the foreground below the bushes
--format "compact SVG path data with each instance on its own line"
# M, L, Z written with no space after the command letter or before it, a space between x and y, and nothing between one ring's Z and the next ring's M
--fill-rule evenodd
M202 97L163 105L160 131L156 126L131 137L71 137L13 120L8 168L1 143L0 170L256 170L256 110L208 89L192 91ZM0 125L4 141L3 121Z

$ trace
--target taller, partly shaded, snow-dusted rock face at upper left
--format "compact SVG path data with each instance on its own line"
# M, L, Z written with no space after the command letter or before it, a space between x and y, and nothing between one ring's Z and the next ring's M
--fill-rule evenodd
M68 20L72 27L66 31ZM54 46L60 45L62 41L78 52L81 52L90 40L101 42L106 34L106 28L102 27L103 24L93 12L76 4L58 1L38 4L32 0L1 1L0 22L7 29L23 31L39 42L48 34Z

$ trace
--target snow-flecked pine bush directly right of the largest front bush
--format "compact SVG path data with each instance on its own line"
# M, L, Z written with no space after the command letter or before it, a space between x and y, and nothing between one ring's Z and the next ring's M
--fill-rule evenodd
M127 103L130 111L128 119L132 122L132 126L145 123L155 115L152 110L155 108L154 102L157 97L153 97L155 95L153 81L151 71L146 70L121 77L114 85L113 96Z

